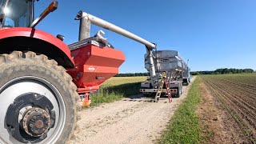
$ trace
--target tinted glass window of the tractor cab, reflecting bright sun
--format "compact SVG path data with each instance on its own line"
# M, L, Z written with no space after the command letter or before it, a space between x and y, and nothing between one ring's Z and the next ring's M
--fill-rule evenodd
M5 19L2 27L28 27L30 26L30 0L10 0L4 8Z

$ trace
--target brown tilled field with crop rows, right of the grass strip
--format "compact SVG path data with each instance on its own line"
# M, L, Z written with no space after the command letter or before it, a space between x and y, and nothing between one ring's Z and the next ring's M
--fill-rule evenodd
M256 75L203 76L217 102L224 142L254 143L256 139ZM224 134L225 135L225 134Z

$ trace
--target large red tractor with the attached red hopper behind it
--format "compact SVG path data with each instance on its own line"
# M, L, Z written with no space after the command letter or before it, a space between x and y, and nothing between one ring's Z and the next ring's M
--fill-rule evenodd
M70 46L37 26L34 0L0 1L0 143L65 143L78 121L79 99L118 74L122 51L102 38Z

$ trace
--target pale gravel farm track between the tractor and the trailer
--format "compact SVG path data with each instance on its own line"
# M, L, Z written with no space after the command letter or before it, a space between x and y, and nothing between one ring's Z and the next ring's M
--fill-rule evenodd
M189 87L183 86L181 98L173 98L171 103L168 98L154 103L136 95L82 110L71 143L154 143L186 98Z

